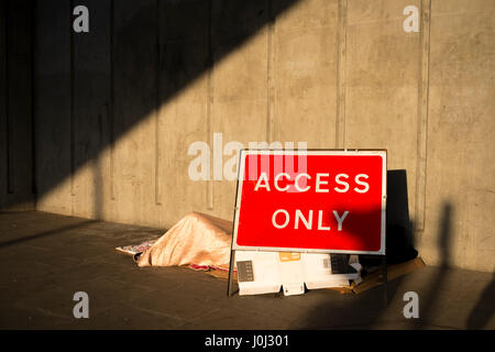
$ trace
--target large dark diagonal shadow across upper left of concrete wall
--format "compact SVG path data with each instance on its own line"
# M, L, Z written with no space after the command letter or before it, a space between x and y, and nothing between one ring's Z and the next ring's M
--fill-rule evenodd
M101 153L297 1L6 1L7 16L32 18L33 117L16 119L33 129L37 198L64 183L74 195L70 176L90 165L100 218ZM89 9L89 33L70 30L79 4Z

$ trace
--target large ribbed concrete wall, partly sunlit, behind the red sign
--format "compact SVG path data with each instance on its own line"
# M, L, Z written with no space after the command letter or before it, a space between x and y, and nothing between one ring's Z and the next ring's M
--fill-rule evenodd
M387 148L426 262L495 268L494 1L77 4L89 33L70 31L67 1L34 11L38 210L164 228L191 210L230 219L234 182L188 178L189 145L212 158L213 132L223 145ZM407 6L419 32L403 29Z

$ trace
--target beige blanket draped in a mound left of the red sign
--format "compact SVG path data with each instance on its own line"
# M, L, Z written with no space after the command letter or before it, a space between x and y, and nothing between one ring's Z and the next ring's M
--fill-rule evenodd
M229 268L232 222L191 212L138 258L139 266L205 265Z

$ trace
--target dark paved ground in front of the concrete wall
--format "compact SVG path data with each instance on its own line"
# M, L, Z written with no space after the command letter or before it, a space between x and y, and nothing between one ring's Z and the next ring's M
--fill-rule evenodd
M184 267L140 268L118 245L164 229L28 211L0 213L0 329L495 329L495 276L427 266L360 295L227 297L227 282ZM89 297L76 319L74 295ZM419 298L405 318L404 295Z

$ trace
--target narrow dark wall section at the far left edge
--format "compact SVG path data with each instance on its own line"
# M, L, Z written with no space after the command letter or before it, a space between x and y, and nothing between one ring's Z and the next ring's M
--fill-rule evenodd
M32 8L0 4L0 207L34 209Z

